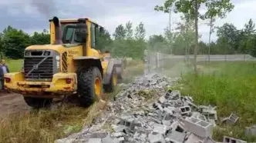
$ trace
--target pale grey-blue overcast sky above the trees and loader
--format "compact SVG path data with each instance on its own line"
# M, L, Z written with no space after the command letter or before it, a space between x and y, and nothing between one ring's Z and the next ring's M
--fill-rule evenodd
M234 10L227 18L217 19L215 25L225 22L233 23L237 28L243 28L250 18L256 22L256 0L231 0ZM155 5L162 5L164 0L0 0L0 31L8 25L21 28L31 34L49 29L49 18L92 18L103 25L111 34L117 25L133 22L133 27L143 22L147 37L163 34L169 22L168 14L155 12ZM180 15L172 14L171 22L179 21ZM200 22L199 33L201 40L207 42L209 27L207 21ZM216 40L216 35L213 35Z

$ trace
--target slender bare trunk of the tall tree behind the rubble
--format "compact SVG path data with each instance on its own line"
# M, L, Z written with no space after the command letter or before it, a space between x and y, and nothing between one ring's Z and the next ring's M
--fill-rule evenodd
M194 72L197 75L197 49L198 49L198 3L195 0L194 4L195 15L194 15L194 28L196 30L195 37L195 47L194 47Z

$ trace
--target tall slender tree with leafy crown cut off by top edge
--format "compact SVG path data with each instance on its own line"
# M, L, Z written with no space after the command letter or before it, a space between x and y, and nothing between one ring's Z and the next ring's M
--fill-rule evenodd
M230 0L167 0L163 6L156 6L155 10L167 12L174 5L174 12L182 12L194 19L195 27L195 48L194 48L194 71L197 73L197 48L198 48L198 18L210 18L222 16L226 12L231 12L234 5ZM199 13L200 6L205 5L207 12Z

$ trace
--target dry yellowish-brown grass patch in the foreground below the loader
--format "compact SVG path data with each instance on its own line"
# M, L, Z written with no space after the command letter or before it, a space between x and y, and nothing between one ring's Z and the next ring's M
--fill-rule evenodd
M65 105L55 111L9 115L0 120L0 142L54 142L57 138L79 131L89 109Z

